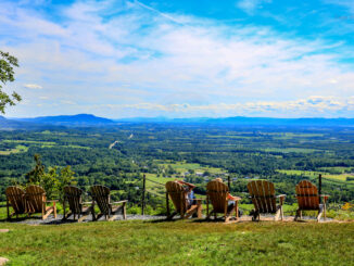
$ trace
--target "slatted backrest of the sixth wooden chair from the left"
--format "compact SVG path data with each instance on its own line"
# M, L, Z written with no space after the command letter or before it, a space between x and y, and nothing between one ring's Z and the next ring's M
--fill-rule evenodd
M228 193L229 188L224 182L212 180L206 185L206 194L216 213L225 212L225 202Z

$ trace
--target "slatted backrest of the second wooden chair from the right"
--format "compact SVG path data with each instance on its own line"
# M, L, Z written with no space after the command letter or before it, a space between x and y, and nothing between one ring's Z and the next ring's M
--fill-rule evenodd
M258 213L275 213L277 211L276 191L273 182L267 180L253 180L248 189Z

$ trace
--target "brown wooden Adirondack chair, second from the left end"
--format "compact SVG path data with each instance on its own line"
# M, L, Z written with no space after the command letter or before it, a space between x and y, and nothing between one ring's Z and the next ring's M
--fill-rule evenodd
M47 201L43 188L35 185L27 187L26 199L29 215L40 213L41 218L47 219L53 213L54 218L56 218L56 201ZM47 206L47 203L52 203L53 206Z

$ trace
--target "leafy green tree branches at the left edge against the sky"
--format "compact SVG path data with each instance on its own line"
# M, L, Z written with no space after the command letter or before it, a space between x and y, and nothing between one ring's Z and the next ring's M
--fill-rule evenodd
M13 69L14 66L18 67L17 59L10 55L8 52L0 51L0 112L2 114L5 113L5 106L8 104L12 106L16 104L16 101L21 101L21 96L18 96L15 91L13 91L10 96L2 90L3 85L15 80L15 73Z

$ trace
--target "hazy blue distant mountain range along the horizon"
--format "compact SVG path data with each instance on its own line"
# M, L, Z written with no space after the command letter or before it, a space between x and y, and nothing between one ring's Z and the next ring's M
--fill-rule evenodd
M354 118L270 118L270 117L132 117L108 119L92 114L40 116L35 118L5 118L0 116L0 129L35 129L42 127L110 127L122 123L211 124L224 126L305 126L354 127Z

